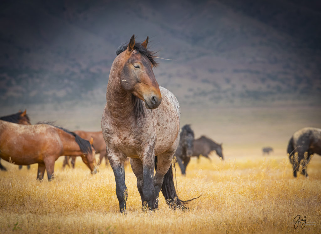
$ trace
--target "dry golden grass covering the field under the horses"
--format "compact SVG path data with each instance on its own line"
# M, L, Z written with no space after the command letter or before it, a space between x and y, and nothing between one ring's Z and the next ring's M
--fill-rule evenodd
M294 229L296 215L306 216L305 232L321 229L318 155L308 165L309 178L293 178L285 155L227 156L224 161L212 155L212 162L193 158L186 177L176 166L180 198L202 194L189 211L170 209L160 195L159 210L143 212L136 178L127 165L125 215L118 212L110 167L103 165L91 175L77 158L74 170L63 171L59 158L55 180L39 182L37 165L19 171L3 164L8 171L0 172L1 233L283 233L302 231L300 225Z

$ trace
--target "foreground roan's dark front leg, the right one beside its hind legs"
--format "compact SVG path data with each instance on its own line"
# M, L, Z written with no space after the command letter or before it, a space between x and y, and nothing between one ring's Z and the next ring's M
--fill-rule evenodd
M156 194L154 188L154 146L149 145L143 152L143 197L148 209L154 210Z

